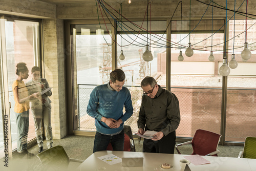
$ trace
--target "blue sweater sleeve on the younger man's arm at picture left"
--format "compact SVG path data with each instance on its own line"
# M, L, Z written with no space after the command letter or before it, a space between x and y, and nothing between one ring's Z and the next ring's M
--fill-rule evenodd
M99 104L99 91L98 89L93 89L90 100L87 105L87 113L91 117L97 119L98 121L101 121L102 116L97 112L97 105Z

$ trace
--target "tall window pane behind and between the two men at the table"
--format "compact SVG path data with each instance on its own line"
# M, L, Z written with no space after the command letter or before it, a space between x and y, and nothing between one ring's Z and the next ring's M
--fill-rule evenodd
M166 58L166 33L164 28L166 28L166 21L151 22L151 32L152 34L144 30L146 28L146 23L144 22L124 22L123 31L118 28L117 36L117 56L118 63L117 67L121 68L125 72L126 76L126 86L130 89L132 94L132 102L134 108L134 114L129 118L125 124L130 125L133 131L138 130L137 120L140 110L142 89L140 88L140 82L145 76L154 77L158 84L165 88L165 81L159 82L159 77L165 75L165 73L159 72L159 55L165 54ZM153 55L152 61L145 61L142 58L145 52L145 46L150 45L150 50ZM119 59L120 51L123 50L125 56L124 60ZM165 67L165 65L164 65Z

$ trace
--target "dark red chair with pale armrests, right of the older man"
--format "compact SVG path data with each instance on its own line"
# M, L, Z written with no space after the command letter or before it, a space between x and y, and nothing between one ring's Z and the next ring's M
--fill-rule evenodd
M191 155L218 156L220 151L217 149L221 135L206 130L197 130L192 141L187 141L175 146L179 154L178 146L191 144L193 153Z

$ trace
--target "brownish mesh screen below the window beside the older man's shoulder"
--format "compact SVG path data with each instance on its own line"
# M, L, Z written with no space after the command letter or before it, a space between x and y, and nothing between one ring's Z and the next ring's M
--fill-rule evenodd
M172 89L172 92L180 104L177 137L193 137L198 129L220 133L221 90Z

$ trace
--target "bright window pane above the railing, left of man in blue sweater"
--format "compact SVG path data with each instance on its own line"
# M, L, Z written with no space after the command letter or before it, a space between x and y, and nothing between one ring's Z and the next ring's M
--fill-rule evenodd
M74 33L76 31L76 34ZM111 72L111 25L75 25L77 84L102 84Z

